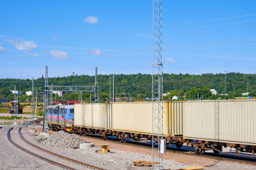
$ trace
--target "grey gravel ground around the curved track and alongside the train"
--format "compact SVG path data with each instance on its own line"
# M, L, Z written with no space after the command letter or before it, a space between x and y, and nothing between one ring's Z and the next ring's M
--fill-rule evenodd
M39 128L39 127L38 127ZM81 161L83 163L88 163L90 165L95 165L100 168L105 168L107 170L149 170L151 167L134 167L132 164L133 160L151 160L151 155L146 153L142 153L144 149L141 148L141 150L133 150L130 148L131 146L128 145L123 145L127 150L123 150L121 148L120 144L115 144L119 148L111 148L114 146L114 144L111 143L110 146L110 152L111 153L95 153L95 150L100 149L96 140L90 141L90 138L82 137L84 138L83 141L80 141L81 143L91 142L95 143L95 147L87 149L87 150L80 150L79 148L74 149L74 148L66 148L66 145L61 145L60 143L66 143L66 138L70 137L63 137L63 136L69 136L69 135L74 135L73 139L77 137L81 138L79 135L76 134L71 134L71 133L66 133L66 132L58 132L56 140L58 140L59 144L55 143L54 147L52 147L50 144L44 143L44 141L38 142L40 138L44 138L41 135L34 136L30 133L30 128L22 128L23 137L28 140L31 143L34 143L35 145L44 148L46 150L50 150L54 153L66 156L68 158L72 158L74 160ZM1 168L3 169L18 169L18 170L27 170L27 169L43 169L43 170L48 170L48 169L59 169L59 167L56 167L55 165L51 165L49 163L46 163L45 161L39 160L37 158L32 157L31 155L28 155L27 153L19 150L15 146L13 146L8 140L7 140L7 130L0 130L0 165L2 165ZM14 131L13 131L14 133ZM16 132L15 132L16 133ZM56 134L56 132L54 132ZM60 135L61 133L64 133L63 135ZM14 137L14 136L13 136ZM50 138L53 138L54 135L51 135ZM56 140L52 140L56 141ZM62 142L60 142L62 141ZM99 140L102 141L102 143L107 143L107 141ZM80 143L79 142L79 143ZM25 145L25 144L24 144ZM120 145L120 146L119 146ZM79 146L76 145L76 147ZM73 146L70 146L73 147ZM34 150L36 152L36 150ZM169 153L168 153L169 154ZM168 155L167 154L167 155ZM204 161L205 159L203 158L197 158L196 156L187 156L187 155L181 155L181 154L169 154L170 157L168 159L164 159L164 168L165 169L171 169L171 170L177 170L180 168L185 168L189 166L200 166L204 167L205 170L256 170L256 166L253 165L246 165L246 164L238 164L238 163L230 163L226 161L220 161L220 160L212 160L212 159L206 159L205 165L199 165L198 159L201 159ZM180 157L181 160L172 160L172 156L174 157ZM165 156L166 157L166 156ZM183 160L189 160L192 161L192 163L188 163L188 161L183 161ZM64 161L64 160L63 160ZM64 161L65 162L65 161ZM63 162L63 163L64 163ZM80 169L80 168L77 168Z

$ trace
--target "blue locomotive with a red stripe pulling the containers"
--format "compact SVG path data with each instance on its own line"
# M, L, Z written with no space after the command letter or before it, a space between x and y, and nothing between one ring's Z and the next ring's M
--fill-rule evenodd
M49 105L47 109L49 129L72 131L74 126L74 105Z

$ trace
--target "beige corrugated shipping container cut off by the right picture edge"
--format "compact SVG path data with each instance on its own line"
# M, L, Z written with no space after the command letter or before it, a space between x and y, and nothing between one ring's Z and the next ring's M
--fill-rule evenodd
M256 145L256 100L184 103L184 138Z

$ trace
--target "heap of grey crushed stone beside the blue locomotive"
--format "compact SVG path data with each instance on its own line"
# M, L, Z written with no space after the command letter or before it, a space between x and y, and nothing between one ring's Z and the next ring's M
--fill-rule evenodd
M53 147L79 148L79 144L86 143L86 141L77 134L60 130L57 133L51 134L49 138L42 140L40 143Z

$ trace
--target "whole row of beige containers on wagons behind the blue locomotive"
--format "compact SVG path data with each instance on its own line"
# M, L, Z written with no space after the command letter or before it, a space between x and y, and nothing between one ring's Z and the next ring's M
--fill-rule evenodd
M229 146L235 148L234 154L246 152L251 153L246 156L254 157L255 122L256 100L163 102L166 143L177 148L186 143L187 147L195 147L199 154L205 150L218 154ZM56 127L56 124L49 123L49 127ZM80 135L101 135L103 139L116 136L121 142L129 139L149 143L152 102L74 104L74 126L72 130L66 126L66 130Z

